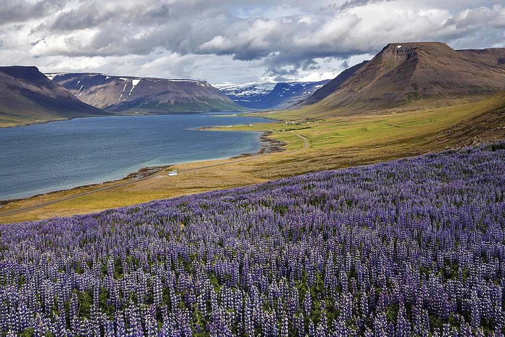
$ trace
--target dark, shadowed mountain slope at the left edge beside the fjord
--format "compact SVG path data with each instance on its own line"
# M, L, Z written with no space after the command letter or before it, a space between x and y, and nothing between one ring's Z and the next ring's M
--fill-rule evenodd
M2 126L103 115L108 113L80 101L36 67L0 67Z

